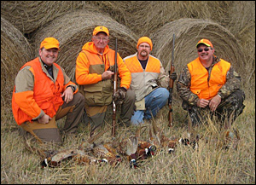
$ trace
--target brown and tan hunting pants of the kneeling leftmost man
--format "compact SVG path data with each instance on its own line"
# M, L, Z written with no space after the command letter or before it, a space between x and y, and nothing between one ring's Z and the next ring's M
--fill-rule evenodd
M84 113L84 96L79 92L73 95L73 101L64 102L48 124L39 124L37 120L21 124L21 128L34 136L39 142L61 142L60 130L56 120L67 116L63 130L65 133L74 133L79 126L80 118Z

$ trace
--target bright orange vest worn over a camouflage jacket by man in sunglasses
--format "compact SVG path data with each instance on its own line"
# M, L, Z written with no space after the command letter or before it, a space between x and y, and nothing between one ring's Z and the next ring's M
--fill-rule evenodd
M195 95L198 95L200 99L211 100L226 83L226 75L230 70L230 63L220 59L212 67L210 76L207 69L201 65L199 58L191 61L188 64L188 68L191 74L190 90Z

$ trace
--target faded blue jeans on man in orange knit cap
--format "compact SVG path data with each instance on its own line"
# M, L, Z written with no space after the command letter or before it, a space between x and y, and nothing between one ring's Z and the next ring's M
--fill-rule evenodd
M152 119L162 107L166 105L169 91L166 88L157 88L145 97L146 110L137 110L131 117L131 124L144 123L143 119Z

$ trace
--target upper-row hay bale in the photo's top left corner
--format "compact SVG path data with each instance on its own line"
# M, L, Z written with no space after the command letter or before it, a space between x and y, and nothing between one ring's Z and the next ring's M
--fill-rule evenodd
M87 9L87 1L1 1L1 17L20 32L30 33L73 9Z

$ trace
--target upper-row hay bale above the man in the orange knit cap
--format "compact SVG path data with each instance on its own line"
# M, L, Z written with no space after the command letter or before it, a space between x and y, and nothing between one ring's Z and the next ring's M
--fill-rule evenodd
M152 34L161 26L181 18L225 22L233 2L223 1L132 1L127 4L127 26L138 36Z

